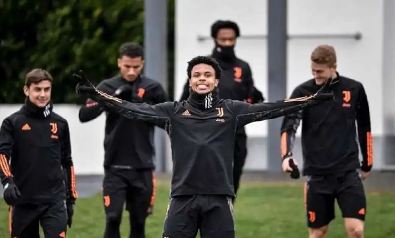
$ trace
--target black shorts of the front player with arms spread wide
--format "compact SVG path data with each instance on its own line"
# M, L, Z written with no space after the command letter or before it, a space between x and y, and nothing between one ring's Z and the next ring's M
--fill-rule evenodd
M170 198L163 238L234 238L232 199L223 195Z

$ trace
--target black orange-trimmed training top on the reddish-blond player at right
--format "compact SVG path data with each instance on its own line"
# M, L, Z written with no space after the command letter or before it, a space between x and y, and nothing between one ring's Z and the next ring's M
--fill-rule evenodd
M297 86L291 97L310 95L317 88L319 86L314 79L310 79ZM282 158L292 155L295 134L302 121L304 175L358 168L370 171L373 166L372 134L369 104L363 85L337 74L328 90L333 92L334 101L284 117L281 127ZM361 163L359 152L363 156Z

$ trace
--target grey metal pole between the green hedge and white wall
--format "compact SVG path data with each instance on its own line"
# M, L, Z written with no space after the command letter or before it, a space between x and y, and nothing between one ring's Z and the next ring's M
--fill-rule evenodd
M159 81L167 91L167 0L144 0L145 75ZM155 128L156 170L166 171L166 133Z

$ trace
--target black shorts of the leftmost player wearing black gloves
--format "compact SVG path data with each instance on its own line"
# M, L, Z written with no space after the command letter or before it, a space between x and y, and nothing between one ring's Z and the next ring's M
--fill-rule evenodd
M64 201L11 206L9 219L11 238L40 238L40 223L45 238L66 237L67 212Z

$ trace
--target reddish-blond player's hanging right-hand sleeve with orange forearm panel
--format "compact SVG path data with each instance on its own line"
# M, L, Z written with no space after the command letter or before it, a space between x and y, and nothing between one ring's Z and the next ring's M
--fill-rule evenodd
M364 172L369 172L373 166L373 142L370 128L369 103L363 86L361 86L359 91L356 110L359 145L363 156L361 169Z

